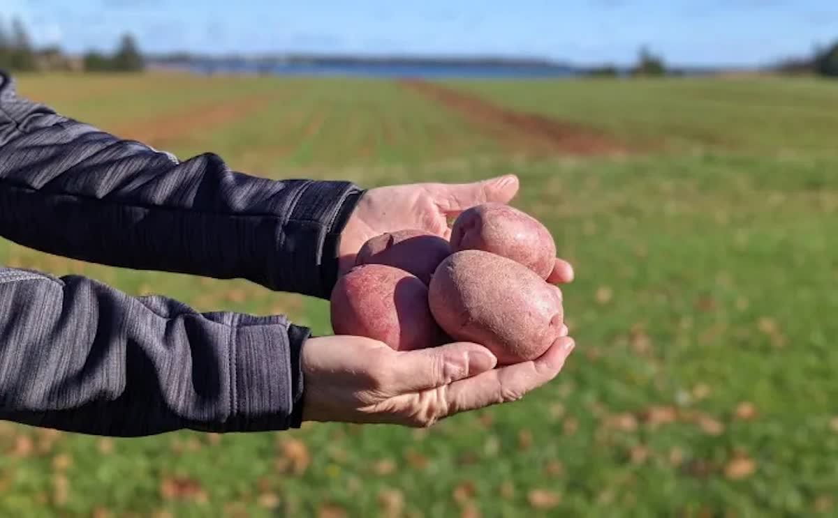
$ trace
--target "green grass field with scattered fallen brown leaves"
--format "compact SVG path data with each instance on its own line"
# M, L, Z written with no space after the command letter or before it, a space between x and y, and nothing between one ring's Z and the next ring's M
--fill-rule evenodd
M121 440L0 423L0 515L838 513L838 84L448 86L646 151L528 156L383 81L24 77L24 95L65 115L182 158L213 151L253 174L371 187L516 172L515 203L576 265L565 298L577 350L524 401L429 430ZM323 301L244 281L111 269L5 242L0 261L199 310L287 312L328 331Z

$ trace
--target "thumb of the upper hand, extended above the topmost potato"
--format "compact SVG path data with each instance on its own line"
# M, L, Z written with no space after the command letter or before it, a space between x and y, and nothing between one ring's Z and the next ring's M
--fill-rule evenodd
M456 214L480 203L509 203L519 187L518 177L510 174L482 182L434 183L429 191L442 212Z

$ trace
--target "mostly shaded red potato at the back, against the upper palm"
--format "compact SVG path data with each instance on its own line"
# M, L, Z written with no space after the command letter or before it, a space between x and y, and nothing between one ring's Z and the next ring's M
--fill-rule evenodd
M451 246L439 236L408 228L371 238L358 252L355 264L388 264L416 275L426 285Z

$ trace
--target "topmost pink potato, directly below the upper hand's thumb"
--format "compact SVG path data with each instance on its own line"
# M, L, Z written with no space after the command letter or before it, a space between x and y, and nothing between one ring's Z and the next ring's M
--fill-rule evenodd
M451 229L451 249L484 250L532 269L541 279L556 264L556 242L537 219L502 203L484 203L464 211Z

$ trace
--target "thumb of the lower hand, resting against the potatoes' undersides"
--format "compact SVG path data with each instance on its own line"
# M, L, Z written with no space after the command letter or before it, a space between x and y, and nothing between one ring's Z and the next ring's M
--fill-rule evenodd
M393 362L393 392L404 394L442 387L491 371L498 359L484 346L456 342L444 346L401 351Z

